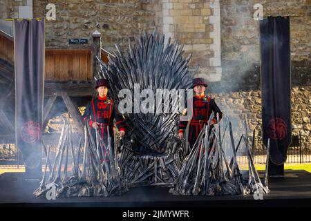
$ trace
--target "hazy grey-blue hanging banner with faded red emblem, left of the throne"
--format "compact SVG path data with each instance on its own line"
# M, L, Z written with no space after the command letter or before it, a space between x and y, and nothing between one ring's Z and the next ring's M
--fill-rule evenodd
M15 133L26 166L41 165L44 21L15 21Z

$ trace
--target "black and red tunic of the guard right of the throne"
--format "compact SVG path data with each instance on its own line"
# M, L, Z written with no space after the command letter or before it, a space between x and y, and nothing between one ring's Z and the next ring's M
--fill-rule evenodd
M189 111L189 110L188 110ZM217 123L217 113L219 114L219 119L223 117L223 113L218 108L214 99L207 96L195 96L193 99L193 115L189 125L189 137L188 141L190 147L194 146L196 139L209 120L209 116L214 112L214 118L212 119L214 123ZM183 133L187 127L187 121L180 121L179 123L179 133Z

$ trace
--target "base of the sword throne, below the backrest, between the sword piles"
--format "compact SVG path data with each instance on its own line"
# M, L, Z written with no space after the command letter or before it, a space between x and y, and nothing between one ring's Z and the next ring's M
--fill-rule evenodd
M185 153L176 138L167 142L167 151L161 155L152 151L137 153L135 148L126 148L119 158L120 175L131 187L172 186L182 168Z

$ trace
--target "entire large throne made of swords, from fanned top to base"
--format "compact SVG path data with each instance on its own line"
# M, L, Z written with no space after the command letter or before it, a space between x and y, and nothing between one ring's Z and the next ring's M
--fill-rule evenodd
M164 35L156 31L151 35L144 33L135 37L134 42L129 39L126 50L115 45L117 52L109 55L108 64L98 59L97 77L109 79L109 93L119 111L127 102L123 110L127 139L121 140L118 146L121 177L133 186L172 184L187 153L185 145L176 138L180 117L178 99L170 96L173 91L180 97L178 90L190 87L191 55L182 57L182 45L177 41L171 44L170 38L166 43L164 40ZM125 98L120 98L120 93ZM146 104L147 97L156 98L153 99L156 102Z

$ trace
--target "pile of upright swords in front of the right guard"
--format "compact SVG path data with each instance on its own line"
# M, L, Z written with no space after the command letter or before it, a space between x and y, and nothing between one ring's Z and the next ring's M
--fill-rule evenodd
M263 183L255 169L253 156L250 151L249 137L245 123L245 135L241 135L238 144L235 144L232 124L229 117L222 130L220 123L209 133L211 119L202 129L191 153L187 156L179 176L176 178L170 193L176 195L245 195L249 193L269 193L267 186L267 162L269 146L267 146L267 162ZM219 116L217 115L218 122ZM232 157L227 157L223 145L227 125L232 148ZM246 121L245 121L246 122ZM244 145L241 144L244 141ZM254 136L252 140L254 145ZM239 146L243 146L248 158L248 177L243 177L238 166L236 153ZM242 148L242 147L241 147Z

